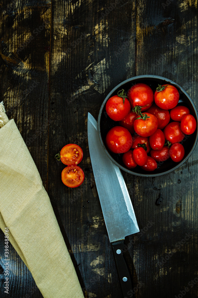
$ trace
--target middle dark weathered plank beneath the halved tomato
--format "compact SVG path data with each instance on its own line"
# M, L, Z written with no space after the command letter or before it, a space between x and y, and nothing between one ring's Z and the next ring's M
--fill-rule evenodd
M54 1L52 11L48 193L85 297L117 298L121 289L91 168L87 115L97 119L107 93L135 74L135 1ZM85 181L76 189L62 184L64 164L54 159L68 143L84 152Z

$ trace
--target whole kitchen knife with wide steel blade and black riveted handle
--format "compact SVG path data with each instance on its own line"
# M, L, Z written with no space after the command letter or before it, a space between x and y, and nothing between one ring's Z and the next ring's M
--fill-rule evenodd
M96 187L113 249L123 297L133 287L123 258L124 238L139 232L134 209L120 169L109 159L99 140L97 121L88 113L88 144Z

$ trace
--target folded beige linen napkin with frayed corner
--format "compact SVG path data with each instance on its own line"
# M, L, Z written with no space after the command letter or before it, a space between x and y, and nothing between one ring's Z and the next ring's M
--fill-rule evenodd
M83 298L50 199L14 122L0 103L0 228L44 298ZM9 256L10 257L10 256Z

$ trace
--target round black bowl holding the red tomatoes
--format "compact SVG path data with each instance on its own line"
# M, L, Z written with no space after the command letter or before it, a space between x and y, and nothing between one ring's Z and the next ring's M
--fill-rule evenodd
M160 77L156 75L140 75L137 77L132 77L128 80L123 81L122 83L118 84L113 90L107 95L105 98L104 102L102 103L102 106L99 111L99 116L98 116L98 134L99 134L99 139L102 144L102 147L106 154L109 156L112 162L114 162L120 169L126 171L127 173L137 175L137 176L143 176L143 177L155 177L155 176L161 176L167 173L170 173L180 167L186 160L189 158L189 156L192 154L196 144L197 144L197 139L198 139L198 132L197 128L196 131L189 135L185 136L184 140L182 141L182 145L184 146L185 149L185 155L183 159L180 162L173 162L171 158L166 160L165 162L159 162L158 167L156 170L153 172L146 172L142 170L140 167L135 167L133 170L130 170L125 167L125 165L122 162L122 155L123 154L116 154L110 152L110 150L107 149L106 143L105 143L105 138L107 135L107 132L114 126L119 125L118 122L113 121L108 117L106 110L105 110L105 105L107 100L112 97L113 95L117 95L118 91L121 89L124 89L126 92L136 83L145 83L148 86L151 87L153 92L155 92L156 88L158 87L158 84L163 85L163 84L171 84L175 86L179 93L180 93L180 99L178 105L184 105L189 108L190 114L192 114L195 119L198 122L198 114L197 114L197 109L190 98L190 96L186 93L186 91L180 87L177 83L173 82L172 80L169 80L165 77Z

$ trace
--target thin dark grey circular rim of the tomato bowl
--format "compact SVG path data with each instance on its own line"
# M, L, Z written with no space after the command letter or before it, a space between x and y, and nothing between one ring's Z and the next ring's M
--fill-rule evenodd
M115 159L113 159L113 157L110 155L110 153L107 151L105 145L104 145L104 142L102 140L102 136L101 136L101 131L100 131L100 120L101 120L101 115L102 115L102 110L104 108L104 105L106 104L107 100L110 98L110 96L113 94L113 92L118 89L120 86L124 85L125 83L129 83L133 80L138 80L138 79L160 79L160 80L165 80L166 82L176 86L178 89L180 89L185 95L186 97L188 97L188 99L190 100L193 108L194 108L194 111L195 111L195 115L197 117L197 123L198 123L198 113L197 113L197 108L193 102L193 100L191 99L191 97L189 96L189 94L178 84L178 83L175 83L174 81L170 80L170 79L167 79L166 77L161 77L161 76L158 76L158 75L139 75L139 76L135 76L135 77L131 77L127 80L124 80L123 82L119 83L117 86L115 86L108 94L107 96L105 97L101 107L100 107L100 111L99 111L99 115L98 115L98 135L99 135L99 140L100 140L100 143L102 145L102 148L104 149L104 152L107 154L107 156L110 158L110 160L116 164L121 170L129 173L129 174L132 174L132 175L135 175L135 176L139 176L139 177L158 177L158 176L162 176L162 175L165 175L165 174L169 174L173 171L175 171L178 167L181 167L182 164L184 164L187 159L191 156L191 154L193 153L194 151L194 148L196 147L197 145L197 140L198 140L198 129L197 129L197 135L196 135L196 139L195 139L195 142L194 142L194 145L191 149L191 151L189 152L189 154L186 156L186 158L181 161L179 164L176 164L175 167L173 167L172 169L170 170L167 170L163 173L152 173L151 174L142 174L142 173L136 173L136 172L133 172L131 171L130 169L126 169L125 167L123 167L122 165L118 164L118 162L115 161Z

